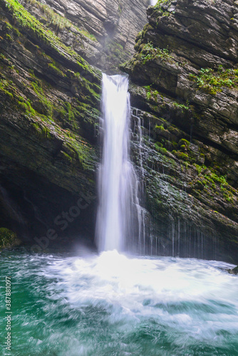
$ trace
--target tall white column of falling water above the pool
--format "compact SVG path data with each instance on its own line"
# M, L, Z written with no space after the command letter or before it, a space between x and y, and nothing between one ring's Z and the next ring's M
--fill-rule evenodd
M128 239L133 239L138 229L138 181L129 157L130 95L126 76L103 74L102 109L96 243L99 251L125 251Z

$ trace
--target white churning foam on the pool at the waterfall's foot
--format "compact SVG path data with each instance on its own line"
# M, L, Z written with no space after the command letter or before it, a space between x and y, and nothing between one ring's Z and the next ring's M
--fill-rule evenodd
M238 333L238 283L227 263L195 258L135 258L117 251L58 261L69 303L110 310L110 323L152 318L197 340L219 342L221 330Z

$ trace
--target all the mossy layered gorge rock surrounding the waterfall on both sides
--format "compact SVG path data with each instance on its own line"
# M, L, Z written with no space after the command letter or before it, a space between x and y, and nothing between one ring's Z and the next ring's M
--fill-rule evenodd
M0 227L93 242L101 70L120 66L145 252L238 263L237 1L148 5L0 0Z

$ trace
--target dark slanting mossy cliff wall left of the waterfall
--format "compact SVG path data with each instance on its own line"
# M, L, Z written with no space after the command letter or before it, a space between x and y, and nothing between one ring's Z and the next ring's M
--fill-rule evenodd
M24 241L48 229L57 241L93 241L101 73L8 4L0 1L0 226Z

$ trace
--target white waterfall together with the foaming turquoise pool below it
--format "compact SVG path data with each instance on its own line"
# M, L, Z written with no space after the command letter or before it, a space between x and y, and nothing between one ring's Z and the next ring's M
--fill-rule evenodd
M145 241L130 162L128 78L103 74L98 250ZM113 231L113 233L112 233ZM82 250L83 251L83 250ZM228 263L195 258L1 253L11 276L14 356L237 356L238 283ZM5 299L1 285L1 298ZM1 313L6 306L1 303ZM6 318L1 318L6 340ZM1 347L1 355L9 351Z

